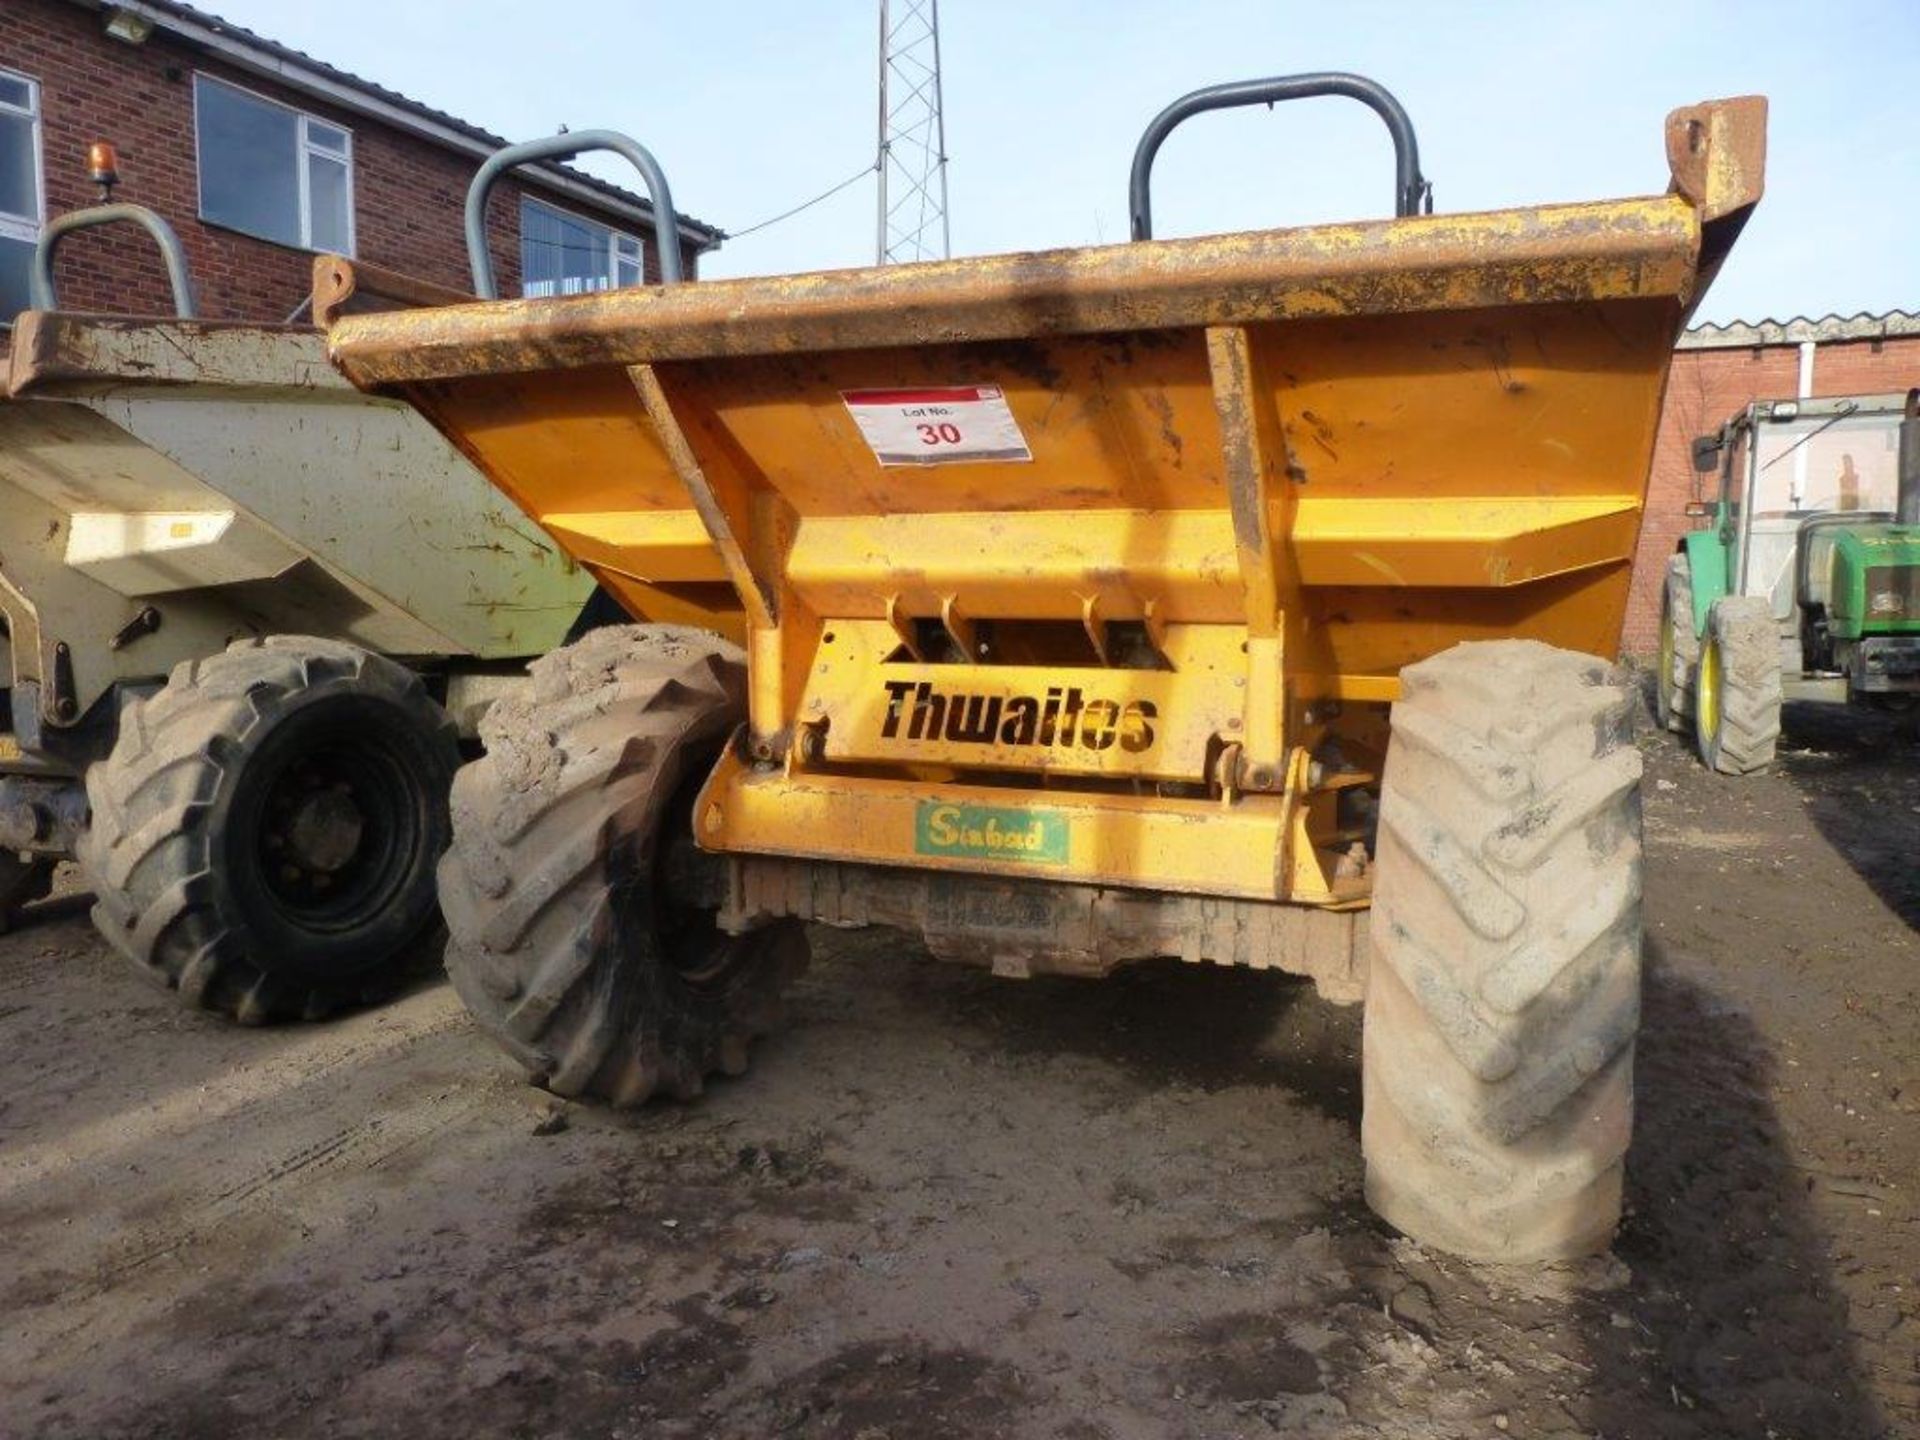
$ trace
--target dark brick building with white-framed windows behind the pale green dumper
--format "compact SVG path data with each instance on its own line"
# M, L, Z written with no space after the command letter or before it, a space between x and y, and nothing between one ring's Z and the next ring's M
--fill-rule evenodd
M180 234L200 313L246 321L292 315L315 252L468 290L467 182L505 144L173 0L6 0L0 324L27 303L40 225L96 204L94 140L119 150L113 198L150 205ZM507 296L659 278L653 207L561 165L495 186L488 230ZM689 275L722 238L682 219ZM63 240L56 282L65 309L171 309L154 246L129 227Z

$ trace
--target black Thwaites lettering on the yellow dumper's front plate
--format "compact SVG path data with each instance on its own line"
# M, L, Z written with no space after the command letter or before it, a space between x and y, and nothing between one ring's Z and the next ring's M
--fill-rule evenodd
M1054 745L1139 755L1154 743L1152 701L1087 699L1077 685L1044 695L970 695L925 680L889 680L881 739L960 745Z

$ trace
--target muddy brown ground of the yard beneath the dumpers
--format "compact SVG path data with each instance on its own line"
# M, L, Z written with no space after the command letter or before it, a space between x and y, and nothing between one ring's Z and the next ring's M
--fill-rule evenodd
M1645 735L1630 1213L1548 1271L1369 1217L1359 1016L1269 975L818 935L751 1075L616 1117L444 983L238 1031L56 899L0 941L0 1432L1920 1434L1920 747L1789 724L1745 783Z

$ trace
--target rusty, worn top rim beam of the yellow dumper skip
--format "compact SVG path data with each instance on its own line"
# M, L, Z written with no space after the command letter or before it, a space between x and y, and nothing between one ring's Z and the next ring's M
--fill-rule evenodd
M1682 196L346 315L355 384L1674 294Z

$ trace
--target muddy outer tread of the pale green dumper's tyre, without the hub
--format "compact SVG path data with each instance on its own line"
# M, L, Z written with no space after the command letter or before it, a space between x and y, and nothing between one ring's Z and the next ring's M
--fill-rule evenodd
M94 925L192 1008L259 1025L317 1020L392 991L390 966L338 981L275 973L227 895L217 795L246 762L250 741L323 687L403 710L444 751L451 774L455 728L420 678L313 636L242 639L182 660L157 693L127 707L113 751L86 772L92 818L75 858L94 891Z

